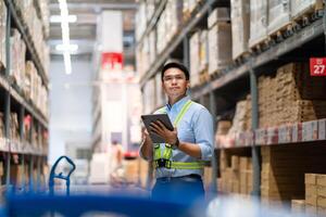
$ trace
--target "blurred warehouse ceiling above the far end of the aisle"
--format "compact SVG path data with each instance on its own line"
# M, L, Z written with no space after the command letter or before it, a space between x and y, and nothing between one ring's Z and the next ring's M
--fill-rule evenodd
M122 10L124 17L125 55L134 55L130 43L135 31L135 0L67 0L70 15L76 15L77 21L70 23L70 38L72 44L78 44L75 54L91 54L97 39L97 18L103 10ZM60 15L58 0L50 0L50 15ZM51 54L61 54L55 46L62 43L61 24L50 23L49 44ZM128 56L126 56L128 58ZM133 58L133 56L131 56Z

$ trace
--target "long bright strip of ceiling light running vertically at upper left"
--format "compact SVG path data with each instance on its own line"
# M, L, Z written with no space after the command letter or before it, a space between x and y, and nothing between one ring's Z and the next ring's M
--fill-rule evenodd
M61 15L61 30L62 30L62 46L64 48L70 48L70 25L68 25L68 10L66 5L66 0L58 0L60 7ZM72 73L72 60L71 51L68 49L63 51L63 60L65 73L68 75Z

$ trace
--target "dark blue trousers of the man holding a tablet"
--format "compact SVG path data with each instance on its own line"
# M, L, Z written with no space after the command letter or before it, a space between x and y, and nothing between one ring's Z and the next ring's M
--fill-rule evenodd
M203 202L204 188L200 176L158 178L152 189L152 199L186 204Z

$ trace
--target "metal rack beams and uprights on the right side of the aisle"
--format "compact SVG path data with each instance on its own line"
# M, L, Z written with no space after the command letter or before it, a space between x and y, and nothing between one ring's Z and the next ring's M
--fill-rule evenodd
M210 13L212 5L216 7L220 1L205 1L199 5L188 23L186 23L180 31L173 37L172 41L166 46L164 51L158 55L150 69L143 74L140 79L141 87L151 79L163 66L164 62L171 56L177 47L183 42L183 56L184 63L189 63L189 46L188 37L196 25L205 18L204 14ZM214 4L215 3L215 4ZM152 28L152 27L151 27ZM148 30L146 31L148 33ZM210 82L203 84L199 87L191 89L191 95L196 101L203 103L210 112L216 116L216 108L218 107L216 97L220 95L220 90L231 86L238 80L247 79L248 87L250 87L251 102L252 102L252 131L240 132L237 140L233 143L215 144L215 151L220 149L237 149L237 148L251 148L252 163L253 163L253 195L260 195L261 184L261 163L260 163L260 146L269 144L289 144L298 142L317 142L326 140L326 119L317 119L308 123L300 123L287 126L279 126L268 129L259 128L259 105L258 105L258 76L266 68L267 73L275 71L280 63L280 56L287 62L296 61L297 59L291 52L299 50L302 46L319 40L325 35L325 51L326 51L326 9L324 9L324 17L314 21L311 25L293 33L288 38L280 42L275 42L273 46L260 53L252 53L250 58L241 64L233 64L224 69L218 77L213 78ZM143 37L141 37L143 39ZM323 50L324 48L322 48ZM318 48L318 54L325 54ZM296 54L294 54L296 55ZM287 58L288 56L288 58ZM308 56L304 56L305 59ZM266 73L265 73L266 74ZM209 100L208 100L209 99ZM212 161L212 189L216 190L217 177L217 162L216 158Z

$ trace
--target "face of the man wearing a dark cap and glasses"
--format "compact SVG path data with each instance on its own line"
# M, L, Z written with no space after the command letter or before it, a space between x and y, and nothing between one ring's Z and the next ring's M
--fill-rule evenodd
M164 72L162 87L168 97L180 97L186 93L189 80L183 71L172 67Z

